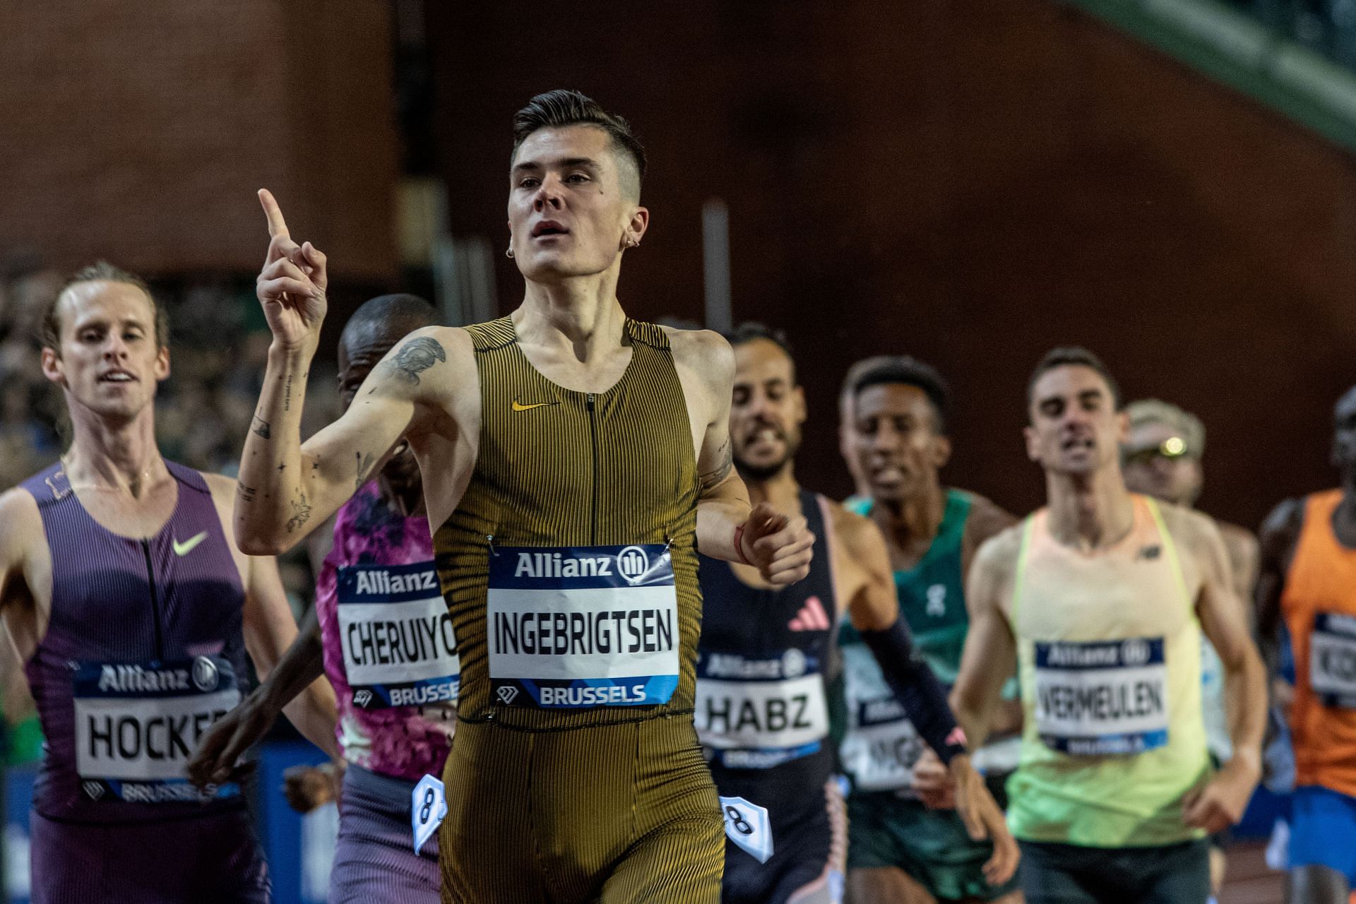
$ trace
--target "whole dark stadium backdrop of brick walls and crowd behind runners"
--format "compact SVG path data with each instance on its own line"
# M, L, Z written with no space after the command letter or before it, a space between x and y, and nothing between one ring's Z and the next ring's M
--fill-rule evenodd
M1222 57L1154 19L1178 7L1291 56ZM1254 527L1333 482L1332 404L1356 382L1356 26L1338 7L7 4L0 484L60 450L28 332L61 274L96 258L145 274L171 306L167 454L233 468L267 347L258 187L330 255L327 350L378 291L466 310L447 260L477 281L480 310L507 313L522 290L502 256L510 118L571 87L648 148L629 313L704 319L702 207L728 211L734 320L780 327L799 351L807 485L850 491L846 366L907 352L955 389L946 480L1031 510L1026 375L1048 347L1081 343L1127 397L1201 416L1201 507ZM1276 81L1300 64L1328 107ZM335 409L331 367L317 363L313 424ZM305 606L306 569L287 569Z

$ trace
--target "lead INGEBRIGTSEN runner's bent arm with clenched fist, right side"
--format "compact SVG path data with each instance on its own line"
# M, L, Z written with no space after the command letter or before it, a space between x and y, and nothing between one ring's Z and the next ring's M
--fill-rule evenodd
M735 354L708 329L666 329L689 416L701 427L697 449L697 548L705 556L758 568L774 585L793 584L810 573L815 538L804 516L788 518L759 503L750 510L749 489L734 468L730 445L730 398Z

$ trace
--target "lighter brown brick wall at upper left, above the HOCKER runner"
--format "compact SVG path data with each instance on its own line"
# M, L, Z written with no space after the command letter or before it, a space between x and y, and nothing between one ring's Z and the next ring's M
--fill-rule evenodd
M340 279L396 271L388 4L50 0L0 27L0 251L256 271L255 190Z

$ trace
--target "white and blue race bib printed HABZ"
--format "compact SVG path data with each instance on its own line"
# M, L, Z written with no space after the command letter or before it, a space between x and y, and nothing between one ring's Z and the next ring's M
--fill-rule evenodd
M819 749L829 706L818 663L706 653L697 665L697 737L734 768L770 768ZM808 674L807 674L808 671Z

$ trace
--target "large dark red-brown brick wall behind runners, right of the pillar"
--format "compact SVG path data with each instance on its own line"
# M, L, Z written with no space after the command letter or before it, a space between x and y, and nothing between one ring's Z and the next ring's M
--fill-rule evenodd
M848 491L838 381L898 351L953 384L946 477L1037 504L1022 392L1062 343L1204 417L1220 516L1256 523L1332 481L1330 408L1356 382L1351 155L1048 0L557 12L428 4L454 226L504 240L510 117L532 94L578 87L629 117L652 225L622 300L700 317L700 207L725 198L736 320L801 350L807 484ZM499 297L521 298L502 259Z

